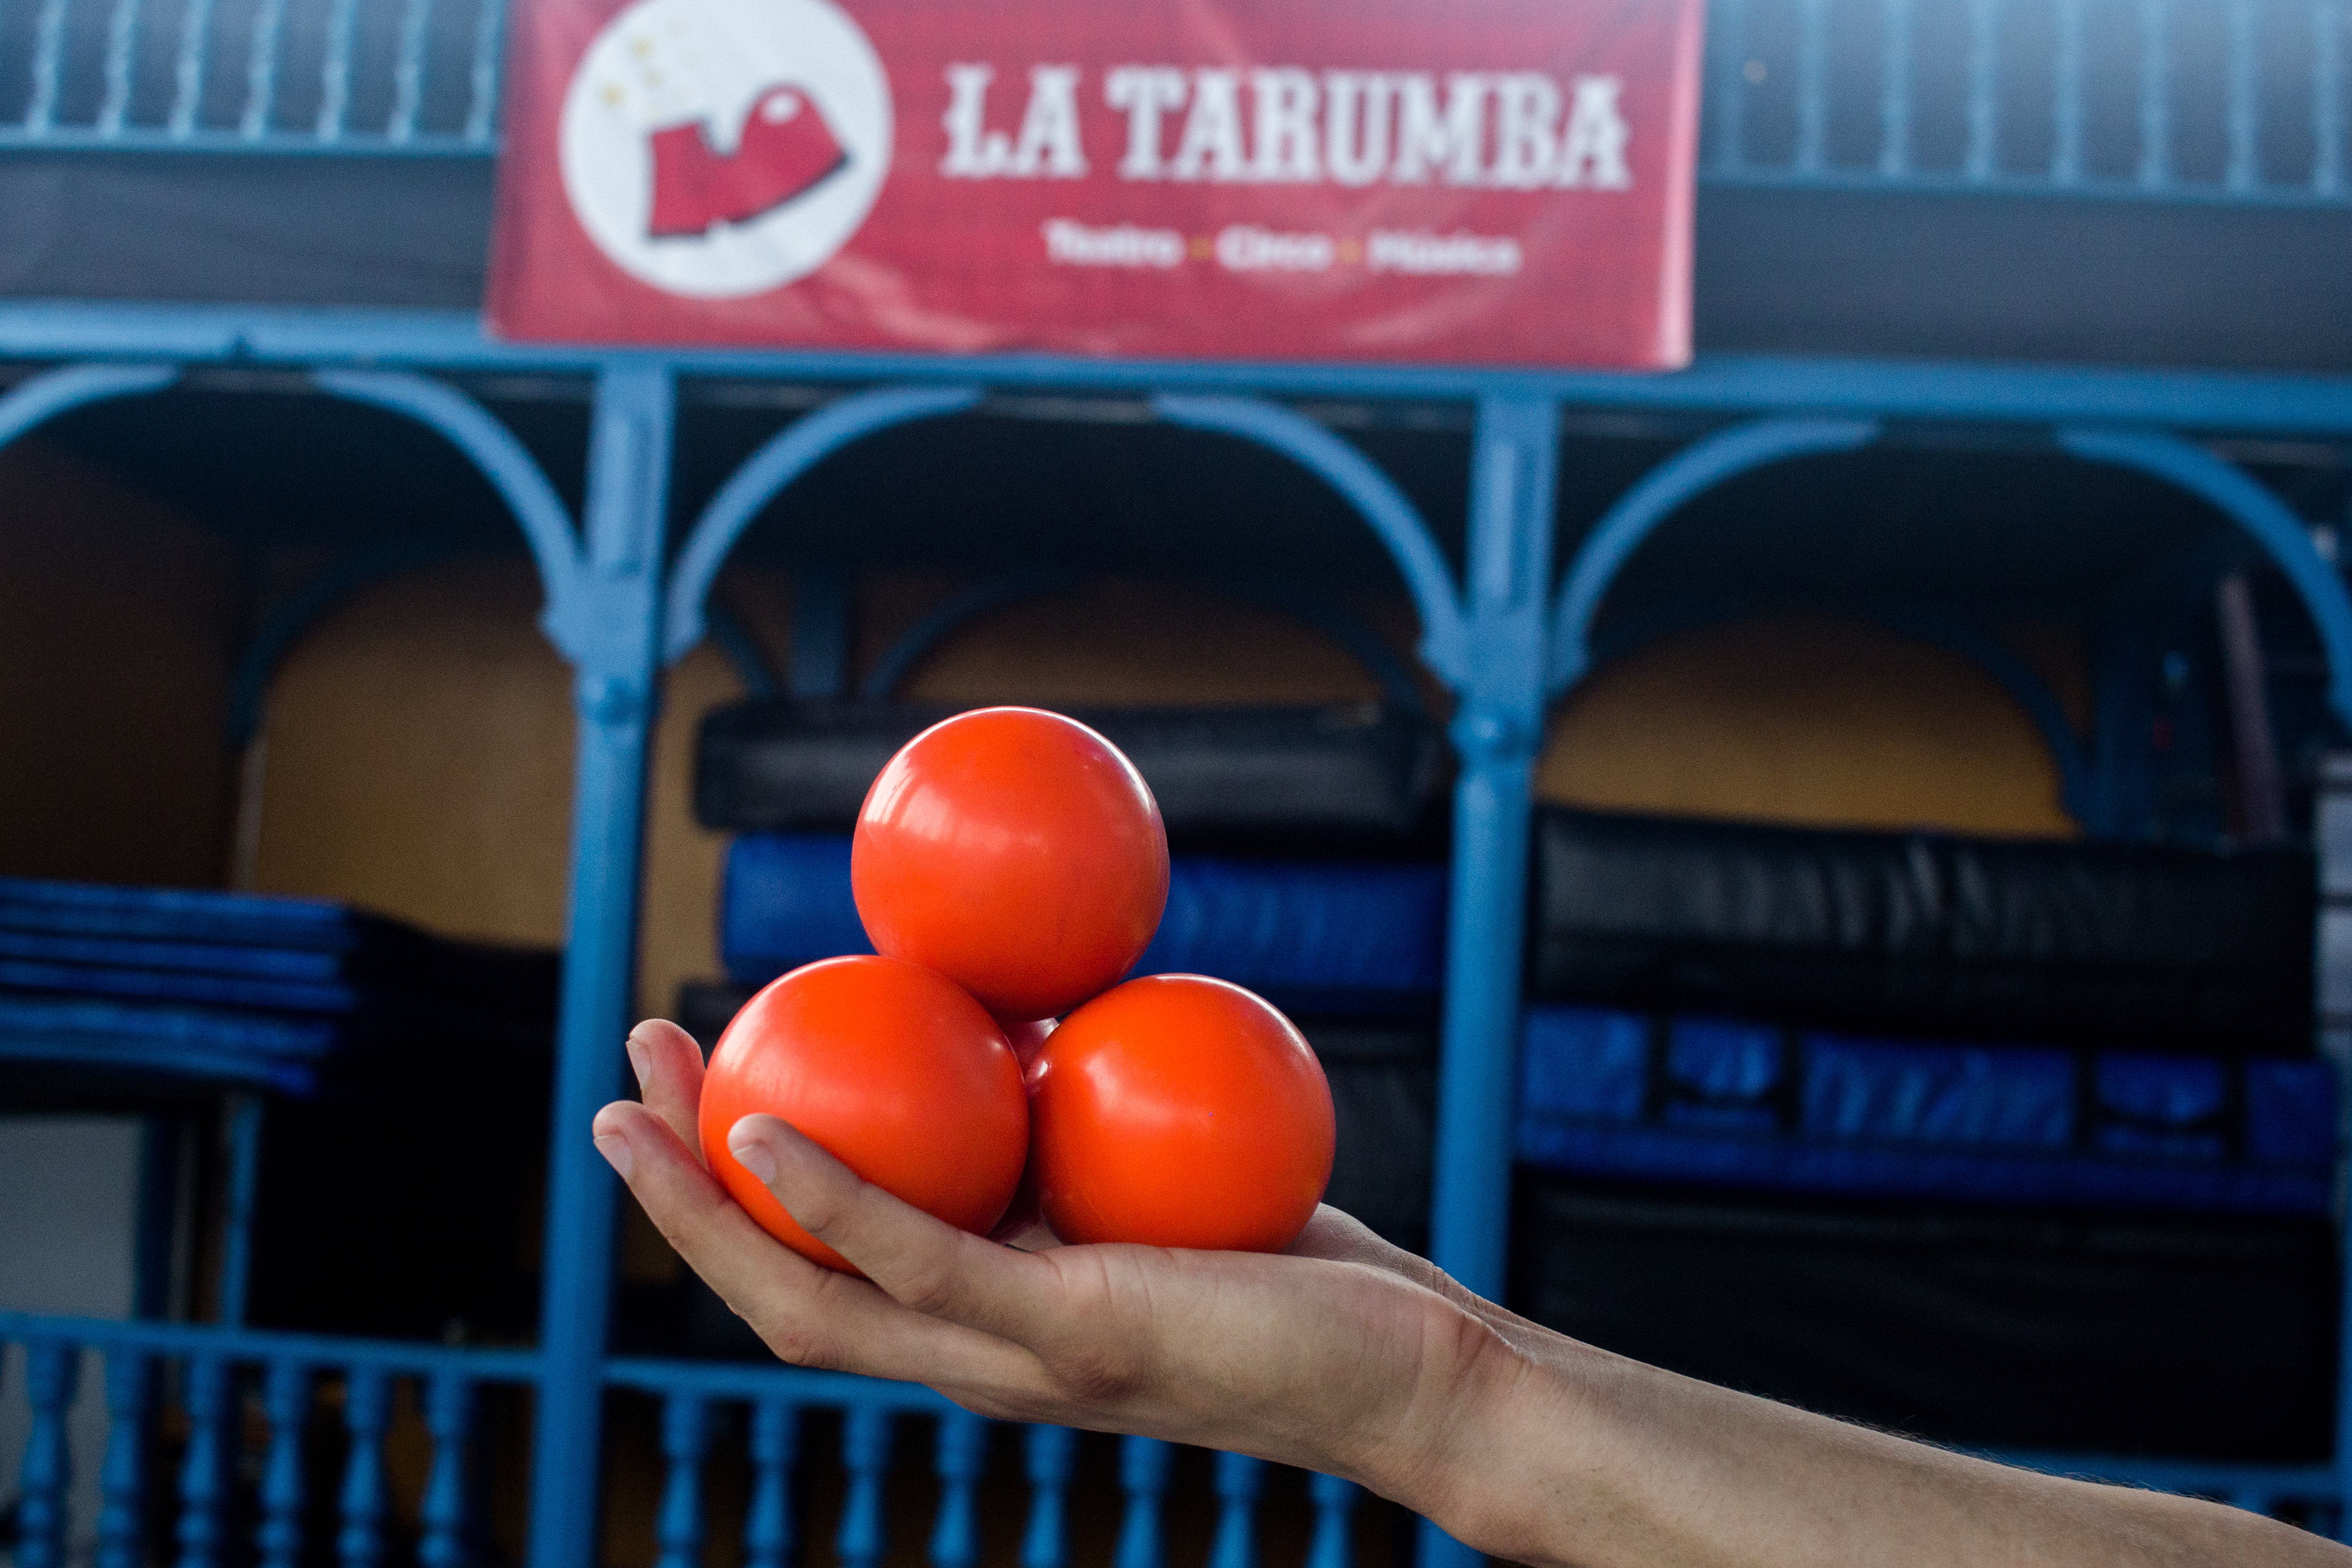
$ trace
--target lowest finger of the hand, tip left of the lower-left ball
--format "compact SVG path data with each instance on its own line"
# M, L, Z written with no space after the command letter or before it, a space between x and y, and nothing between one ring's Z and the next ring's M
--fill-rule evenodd
M595 1143L677 1255L786 1361L903 1382L1035 1385L1028 1352L910 1312L769 1237L647 1107L607 1105Z

